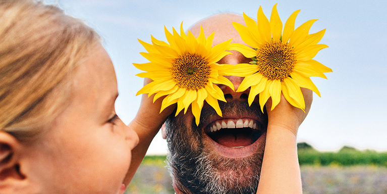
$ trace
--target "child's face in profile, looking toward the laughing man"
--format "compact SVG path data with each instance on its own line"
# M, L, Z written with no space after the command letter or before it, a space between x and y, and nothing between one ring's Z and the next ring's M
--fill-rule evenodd
M30 153L38 187L43 193L123 193L138 136L115 116L117 79L101 45L79 66L72 87L68 107Z

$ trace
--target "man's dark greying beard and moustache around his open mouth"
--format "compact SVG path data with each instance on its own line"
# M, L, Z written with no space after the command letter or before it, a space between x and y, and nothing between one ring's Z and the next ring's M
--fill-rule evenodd
M239 116L248 113L267 122L266 115L255 103L249 107L247 102L231 101L221 102L219 106L224 114ZM219 156L202 141L202 125L215 114L211 107L204 107L199 126L194 120L191 126L186 126L184 118L175 118L174 114L167 119L168 163L175 186L184 193L256 193L264 144L250 157L230 159Z

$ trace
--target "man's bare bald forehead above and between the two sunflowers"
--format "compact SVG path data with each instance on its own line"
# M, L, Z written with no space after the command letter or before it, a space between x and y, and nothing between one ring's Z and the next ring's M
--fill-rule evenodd
M215 32L212 45L224 42L229 39L233 39L232 43L242 43L245 44L238 31L234 28L232 22L238 22L245 25L243 16L233 13L220 13L208 18L204 18L194 25L192 25L189 30L194 36L198 36L200 33L200 25L204 29L204 35L207 37L212 32Z

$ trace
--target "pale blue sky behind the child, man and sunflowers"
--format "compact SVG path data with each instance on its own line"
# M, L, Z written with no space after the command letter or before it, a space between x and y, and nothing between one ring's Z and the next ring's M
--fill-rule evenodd
M46 0L66 13L82 18L103 37L103 44L115 65L120 96L116 111L130 123L140 105L136 92L142 72L132 63L147 63L138 42L150 42L150 35L166 41L164 26L187 29L195 22L217 13L245 13L257 17L262 6L266 17L277 10L285 24L301 10L296 27L318 19L310 33L326 28L316 61L331 68L327 79L312 77L321 93L314 94L312 108L299 128L297 139L321 151L343 146L360 150L387 151L387 1L144 1L144 0ZM167 153L167 142L158 133L148 155Z

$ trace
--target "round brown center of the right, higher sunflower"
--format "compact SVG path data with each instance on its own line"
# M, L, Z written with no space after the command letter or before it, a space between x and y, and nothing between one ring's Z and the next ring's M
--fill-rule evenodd
M280 41L266 42L257 50L258 72L271 80L283 80L290 77L295 60L292 48Z

